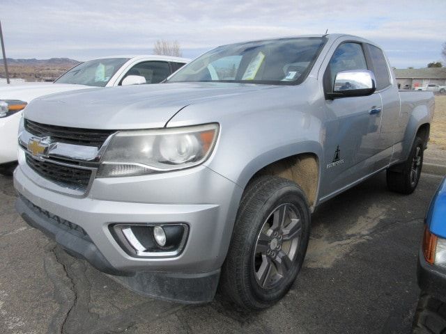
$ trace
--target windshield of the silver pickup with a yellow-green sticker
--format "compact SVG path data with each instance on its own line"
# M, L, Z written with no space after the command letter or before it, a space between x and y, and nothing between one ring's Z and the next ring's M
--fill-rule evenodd
M281 38L224 45L199 56L167 82L300 84L325 38Z

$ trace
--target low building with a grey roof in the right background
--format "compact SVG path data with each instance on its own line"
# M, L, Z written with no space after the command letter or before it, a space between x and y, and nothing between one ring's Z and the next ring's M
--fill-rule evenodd
M399 88L414 89L427 85L446 86L446 67L394 69Z

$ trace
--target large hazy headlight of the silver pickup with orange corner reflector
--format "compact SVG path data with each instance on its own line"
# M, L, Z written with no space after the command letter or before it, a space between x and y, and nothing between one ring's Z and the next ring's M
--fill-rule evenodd
M162 173L202 164L217 141L218 125L121 131L101 159L97 177Z

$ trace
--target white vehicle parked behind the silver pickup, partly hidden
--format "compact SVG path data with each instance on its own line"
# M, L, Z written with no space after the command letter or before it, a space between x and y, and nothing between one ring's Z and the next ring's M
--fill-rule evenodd
M113 56L80 63L53 83L1 86L0 173L10 174L15 168L21 111L36 97L91 87L157 84L187 62L170 56Z

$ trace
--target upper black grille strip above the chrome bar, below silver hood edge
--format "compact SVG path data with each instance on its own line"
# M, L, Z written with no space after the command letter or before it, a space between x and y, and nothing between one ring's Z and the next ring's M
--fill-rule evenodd
M100 148L115 130L77 129L76 127L59 127L25 120L27 132L38 137L51 137L52 142L68 143Z

